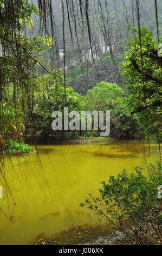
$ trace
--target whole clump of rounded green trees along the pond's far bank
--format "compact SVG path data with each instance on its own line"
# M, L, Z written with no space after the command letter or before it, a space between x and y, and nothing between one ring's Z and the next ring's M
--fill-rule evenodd
M56 72L56 71L55 71ZM62 70L57 71L62 76ZM51 130L51 113L61 111L65 106L65 89L63 84L47 75L41 81L36 80L39 91L34 93L33 120L25 120L25 138L48 138ZM117 84L101 82L87 96L77 94L74 89L66 87L66 106L70 111L111 111L111 136L131 137L139 131L137 118L131 117L123 98L124 90ZM92 134L93 133L93 134ZM61 135L62 136L62 135ZM76 132L73 136L88 138L98 136L95 131Z

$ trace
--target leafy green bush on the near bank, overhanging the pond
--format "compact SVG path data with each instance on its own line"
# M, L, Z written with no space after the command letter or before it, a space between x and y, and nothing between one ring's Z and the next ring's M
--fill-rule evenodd
M134 168L134 173L126 170L116 177L111 176L108 182L102 181L100 196L89 194L82 207L105 217L115 229L121 230L135 243L148 243L147 234L152 227L160 242L162 216L158 186L162 184L162 167L151 166L153 172L146 177L142 168Z

